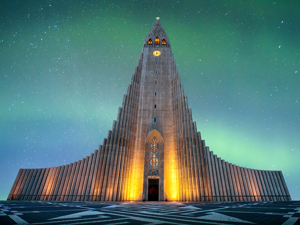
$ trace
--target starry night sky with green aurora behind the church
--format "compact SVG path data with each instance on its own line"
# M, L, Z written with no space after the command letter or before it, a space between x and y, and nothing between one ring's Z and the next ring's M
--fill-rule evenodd
M117 119L156 17L193 120L225 161L282 170L300 200L300 1L1 1L0 199Z

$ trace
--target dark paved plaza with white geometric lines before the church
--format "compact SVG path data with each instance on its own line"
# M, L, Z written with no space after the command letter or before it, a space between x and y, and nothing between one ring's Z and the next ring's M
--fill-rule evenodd
M0 224L300 224L300 201L0 201Z

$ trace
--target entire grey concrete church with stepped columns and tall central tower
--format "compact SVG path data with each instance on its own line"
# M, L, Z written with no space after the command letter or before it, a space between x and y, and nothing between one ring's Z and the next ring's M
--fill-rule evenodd
M7 200L291 201L281 171L225 162L205 146L159 18L103 144L70 164L20 169Z

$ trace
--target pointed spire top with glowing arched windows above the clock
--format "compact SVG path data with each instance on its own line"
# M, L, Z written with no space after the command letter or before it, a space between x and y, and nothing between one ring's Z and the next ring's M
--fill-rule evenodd
M159 19L155 20L148 32L144 41L144 47L170 47L170 39Z

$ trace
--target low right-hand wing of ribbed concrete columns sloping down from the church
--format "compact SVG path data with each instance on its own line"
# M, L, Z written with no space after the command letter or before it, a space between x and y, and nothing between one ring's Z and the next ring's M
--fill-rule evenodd
M253 170L221 160L209 151L212 201L291 201L281 171Z

